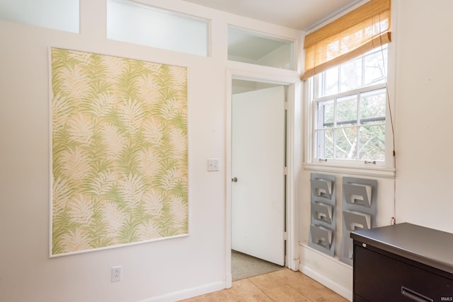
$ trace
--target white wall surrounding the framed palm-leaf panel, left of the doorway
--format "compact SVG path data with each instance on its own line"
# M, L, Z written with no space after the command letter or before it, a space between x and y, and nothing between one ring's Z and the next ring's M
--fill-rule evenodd
M0 301L176 301L226 286L225 169L208 173L207 158L226 161L227 69L279 72L226 62L227 24L301 33L185 1L144 1L211 19L212 57L107 40L103 0L81 0L81 34L0 21ZM190 236L48 257L48 47L188 66ZM122 281L111 283L117 265Z

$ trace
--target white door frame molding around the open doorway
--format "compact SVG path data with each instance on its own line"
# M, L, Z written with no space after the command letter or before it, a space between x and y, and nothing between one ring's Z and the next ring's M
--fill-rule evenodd
M299 176L296 171L302 164L302 82L297 72L289 72L288 76L271 73L255 73L241 69L226 71L226 206L225 206L225 274L226 288L232 286L231 275L231 97L233 79L258 81L287 85L287 183L286 183L286 251L285 266L294 271L299 270L299 230L297 187ZM299 150L299 151L297 151Z

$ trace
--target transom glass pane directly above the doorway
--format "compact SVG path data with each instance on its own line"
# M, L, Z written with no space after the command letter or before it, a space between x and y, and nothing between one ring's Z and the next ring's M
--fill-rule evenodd
M228 28L228 59L231 61L294 69L293 47L293 41Z

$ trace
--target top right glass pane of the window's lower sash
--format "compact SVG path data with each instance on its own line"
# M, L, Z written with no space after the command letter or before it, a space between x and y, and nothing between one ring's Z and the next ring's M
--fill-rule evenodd
M360 95L360 123L383 124L385 122L386 90L379 89Z

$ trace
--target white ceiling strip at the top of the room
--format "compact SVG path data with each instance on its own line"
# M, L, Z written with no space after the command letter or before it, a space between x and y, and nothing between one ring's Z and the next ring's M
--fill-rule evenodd
M309 30L363 0L185 0L297 30Z

